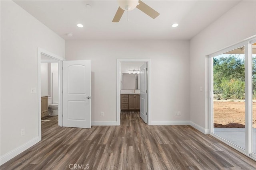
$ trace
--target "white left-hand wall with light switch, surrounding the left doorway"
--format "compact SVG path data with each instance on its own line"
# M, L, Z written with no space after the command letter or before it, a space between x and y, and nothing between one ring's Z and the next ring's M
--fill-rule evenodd
M14 2L0 3L3 161L39 139L38 93L30 93L38 87L38 47L64 58L65 41Z

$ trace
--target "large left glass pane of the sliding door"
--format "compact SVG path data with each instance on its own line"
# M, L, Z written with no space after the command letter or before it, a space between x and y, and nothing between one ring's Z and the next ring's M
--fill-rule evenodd
M245 149L244 46L213 58L213 133Z

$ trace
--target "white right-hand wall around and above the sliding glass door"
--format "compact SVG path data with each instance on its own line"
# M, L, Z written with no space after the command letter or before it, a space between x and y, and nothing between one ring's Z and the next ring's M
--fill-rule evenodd
M256 34L256 1L242 1L190 41L190 120L209 129L206 55ZM200 86L203 92L199 91Z

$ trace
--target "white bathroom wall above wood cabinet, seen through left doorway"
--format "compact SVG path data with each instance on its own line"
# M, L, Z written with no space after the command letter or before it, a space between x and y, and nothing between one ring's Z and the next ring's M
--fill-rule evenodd
M49 64L50 63L41 63L41 96L50 95Z

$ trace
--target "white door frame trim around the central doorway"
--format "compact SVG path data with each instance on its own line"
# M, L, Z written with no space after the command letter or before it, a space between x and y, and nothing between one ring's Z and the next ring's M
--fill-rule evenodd
M121 113L121 63L144 62L148 67L148 125L151 125L151 59L116 59L116 125L120 125Z

